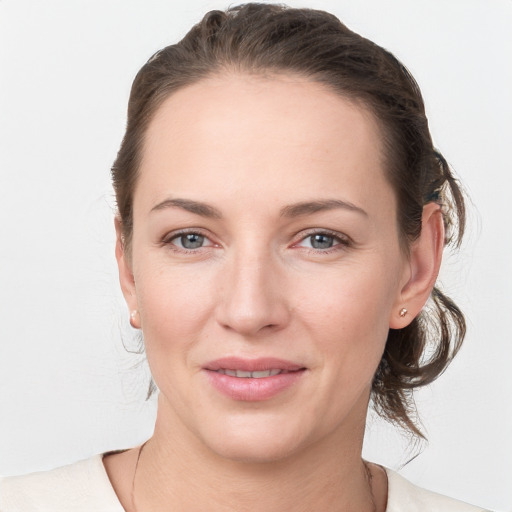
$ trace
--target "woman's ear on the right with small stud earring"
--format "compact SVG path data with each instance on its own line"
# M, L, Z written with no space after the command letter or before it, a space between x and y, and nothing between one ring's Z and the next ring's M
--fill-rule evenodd
M423 309L439 274L444 241L441 207L429 203L423 207L420 236L410 248L400 294L391 311L391 329L406 327Z

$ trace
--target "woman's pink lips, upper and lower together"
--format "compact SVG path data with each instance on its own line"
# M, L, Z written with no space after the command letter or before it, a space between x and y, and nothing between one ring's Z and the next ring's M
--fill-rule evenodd
M219 373L218 370L243 370L257 372L279 369L286 373L269 377L233 377ZM244 359L224 357L209 362L204 366L210 385L223 395L233 400L260 402L269 400L296 384L306 372L306 368L284 359L264 357Z

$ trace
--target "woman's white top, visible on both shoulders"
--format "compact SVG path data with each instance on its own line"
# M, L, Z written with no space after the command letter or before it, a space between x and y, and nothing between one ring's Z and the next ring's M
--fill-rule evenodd
M51 471L0 478L0 512L124 512L102 459L100 454ZM386 472L386 512L485 512Z

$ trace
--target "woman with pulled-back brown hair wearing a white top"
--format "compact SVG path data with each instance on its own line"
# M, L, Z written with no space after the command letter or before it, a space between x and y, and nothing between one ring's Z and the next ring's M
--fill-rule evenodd
M479 510L361 458L370 398L421 436L465 331L435 288L462 195L392 55L321 11L211 12L137 75L112 174L155 432L5 479L2 511Z

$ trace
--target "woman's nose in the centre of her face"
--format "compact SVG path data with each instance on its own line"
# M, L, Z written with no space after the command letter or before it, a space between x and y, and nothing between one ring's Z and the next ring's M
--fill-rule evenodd
M219 276L217 321L245 337L283 329L291 309L281 268L269 251L240 251Z

